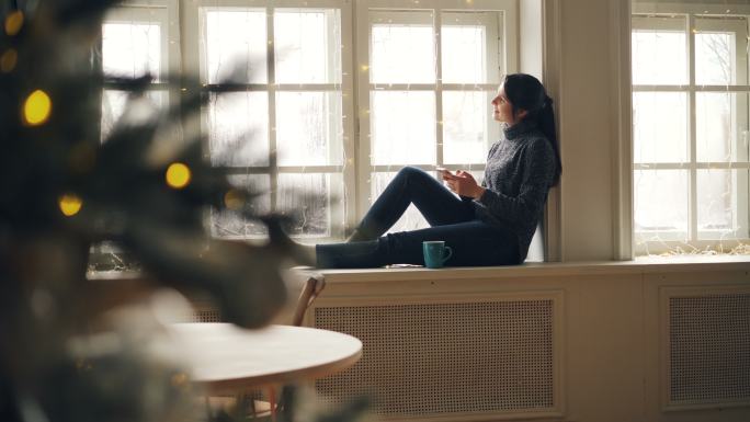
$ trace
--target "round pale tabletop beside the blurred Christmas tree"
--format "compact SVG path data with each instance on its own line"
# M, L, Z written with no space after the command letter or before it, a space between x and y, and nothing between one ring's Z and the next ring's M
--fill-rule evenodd
M175 323L169 332L194 383L211 392L237 392L343 370L362 356L351 335L307 327L243 330L229 323Z

